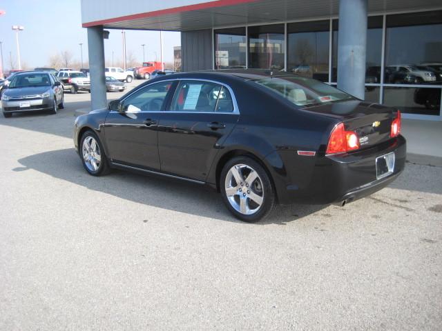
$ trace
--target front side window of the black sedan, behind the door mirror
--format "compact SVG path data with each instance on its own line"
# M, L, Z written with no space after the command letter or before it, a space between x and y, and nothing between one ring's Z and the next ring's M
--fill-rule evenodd
M172 83L172 81L164 81L138 90L124 99L123 110L125 112L160 112Z

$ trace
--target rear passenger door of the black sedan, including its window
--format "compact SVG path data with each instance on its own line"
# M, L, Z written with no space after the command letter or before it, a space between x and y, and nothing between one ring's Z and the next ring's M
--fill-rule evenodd
M238 106L228 86L180 81L158 129L162 172L204 181L238 118Z

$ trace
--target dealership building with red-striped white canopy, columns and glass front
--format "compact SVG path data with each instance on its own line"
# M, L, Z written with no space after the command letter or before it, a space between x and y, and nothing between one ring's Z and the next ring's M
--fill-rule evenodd
M82 0L93 108L106 30L182 32L182 71L286 70L406 119L442 121L441 0Z

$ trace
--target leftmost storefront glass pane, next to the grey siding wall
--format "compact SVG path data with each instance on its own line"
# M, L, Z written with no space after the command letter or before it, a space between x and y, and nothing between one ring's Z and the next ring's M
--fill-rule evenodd
M246 68L246 28L215 30L215 69Z

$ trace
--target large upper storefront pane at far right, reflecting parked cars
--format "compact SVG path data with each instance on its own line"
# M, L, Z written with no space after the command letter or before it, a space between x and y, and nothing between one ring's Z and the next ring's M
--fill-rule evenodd
M442 10L387 15L385 83L442 83Z

